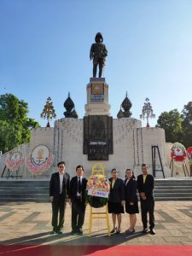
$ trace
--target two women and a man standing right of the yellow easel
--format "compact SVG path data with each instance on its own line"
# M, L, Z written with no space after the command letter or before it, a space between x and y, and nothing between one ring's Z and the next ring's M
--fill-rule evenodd
M108 199L108 212L112 213L113 230L111 233L119 234L121 232L121 213L127 212L130 218L130 227L125 233L134 233L137 223L138 198L137 190L141 201L141 212L143 222L143 233L149 231L151 235L155 234L154 230L154 177L148 173L148 166L143 164L143 174L137 177L131 169L125 172L125 181L118 177L118 171L112 169L112 177L109 178L111 183L110 195ZM117 225L116 225L117 222Z

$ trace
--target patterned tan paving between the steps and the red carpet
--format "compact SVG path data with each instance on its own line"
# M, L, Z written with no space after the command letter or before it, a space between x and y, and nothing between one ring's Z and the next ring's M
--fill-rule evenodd
M123 214L122 233L107 236L104 219L93 220L93 233L88 236L90 207L87 207L84 235L71 236L71 208L67 205L64 233L50 235L49 203L0 203L0 245L192 245L192 202L155 202L156 235L143 235L140 214L136 233L125 235L128 215ZM111 216L110 224L112 227Z

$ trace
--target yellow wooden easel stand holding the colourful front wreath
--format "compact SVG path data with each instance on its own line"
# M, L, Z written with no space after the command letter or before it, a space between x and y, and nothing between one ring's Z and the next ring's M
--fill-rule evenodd
M92 175L94 174L102 174L105 175L104 166L102 164L95 164L92 166ZM107 227L108 227L108 236L110 236L110 225L109 225L109 218L108 218L108 204L105 206L105 212L94 212L93 207L90 207L90 222L89 222L89 236L92 232L92 221L93 218L105 218L107 220Z

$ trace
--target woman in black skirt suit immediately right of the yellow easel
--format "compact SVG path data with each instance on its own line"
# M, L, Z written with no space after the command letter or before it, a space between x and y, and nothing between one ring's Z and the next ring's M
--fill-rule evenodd
M120 233L121 224L121 213L124 213L125 205L125 185L122 179L118 177L118 171L112 169L112 177L109 178L110 181L110 194L108 198L108 212L112 213L113 219L113 230L111 233ZM116 227L116 219L118 222L118 227Z

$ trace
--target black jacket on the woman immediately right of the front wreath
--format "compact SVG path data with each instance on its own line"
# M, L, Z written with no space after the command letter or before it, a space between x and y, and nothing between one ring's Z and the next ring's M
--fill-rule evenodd
M122 200L125 200L125 184L123 180L118 177L113 185L113 189L112 189L113 177L110 177L108 180L111 183L108 201L120 202Z

